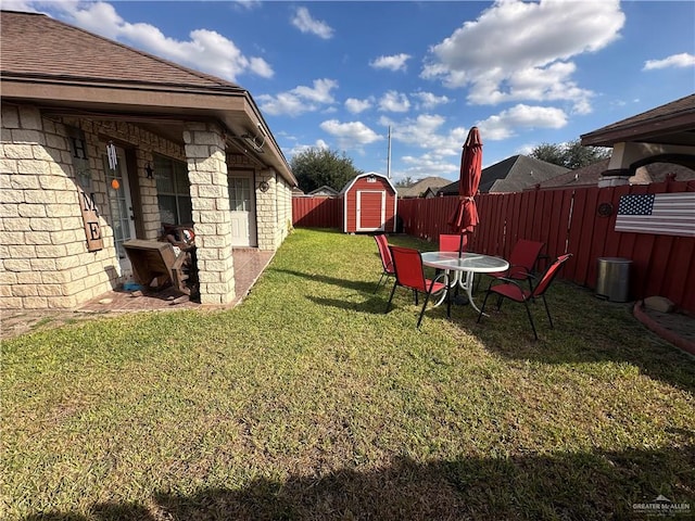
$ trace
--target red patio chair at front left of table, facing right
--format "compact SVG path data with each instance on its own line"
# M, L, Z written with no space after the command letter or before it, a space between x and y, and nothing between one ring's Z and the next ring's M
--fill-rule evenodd
M393 267L395 269L395 283L391 290L391 296L389 296L389 303L387 304L387 310L389 313L391 308L391 301L393 301L393 294L395 289L401 285L413 290L415 296L415 305L418 304L418 293L425 293L425 304L422 304L422 310L420 317L417 319L417 328L420 329L420 322L425 315L425 308L430 300L432 293L443 291L446 288L446 274L440 274L434 279L427 279L425 277L425 269L422 266L422 256L417 250L412 247L390 246L391 258L393 258ZM442 279L444 282L440 282Z

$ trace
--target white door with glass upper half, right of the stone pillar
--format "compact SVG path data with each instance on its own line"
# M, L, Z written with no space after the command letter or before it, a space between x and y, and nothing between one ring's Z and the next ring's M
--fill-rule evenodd
M253 171L229 176L229 208L231 211L231 245L256 246L256 208Z

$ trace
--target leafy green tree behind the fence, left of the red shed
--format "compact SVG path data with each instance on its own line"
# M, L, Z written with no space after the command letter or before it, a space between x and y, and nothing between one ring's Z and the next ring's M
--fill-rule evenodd
M352 160L330 149L309 148L292 156L292 173L302 190L311 192L324 185L333 190L342 188L355 176L362 174Z

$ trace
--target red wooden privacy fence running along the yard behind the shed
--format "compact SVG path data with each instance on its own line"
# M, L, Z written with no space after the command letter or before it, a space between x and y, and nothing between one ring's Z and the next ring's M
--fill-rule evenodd
M695 314L695 238L615 231L621 195L693 191L695 181L665 181L478 195L476 201L480 225L470 237L468 247L508 257L519 239L542 241L546 244L544 253L549 257L573 253L560 276L591 289L596 287L598 257L630 258L632 298L661 295L690 314ZM319 211L325 203L315 202L315 206L309 207L304 201L312 200L293 200L293 208L298 211L294 214L295 226L341 227L340 203L337 207L331 205ZM450 232L446 223L456 203L456 196L399 200L403 231L435 243L440 233ZM611 205L610 215L599 215L602 203ZM313 220L324 211L330 215L326 221L318 224L318 220ZM298 217L312 224L305 225Z

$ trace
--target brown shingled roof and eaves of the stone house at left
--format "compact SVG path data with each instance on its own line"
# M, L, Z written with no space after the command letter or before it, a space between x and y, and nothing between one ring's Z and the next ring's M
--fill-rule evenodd
M296 185L251 93L239 85L45 14L2 11L0 24L3 101L59 115L130 119L181 144L184 122L215 122L236 150ZM243 135L263 137L263 151L249 152Z

